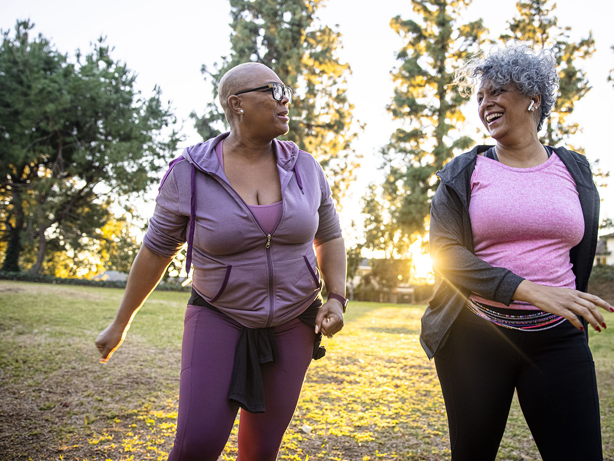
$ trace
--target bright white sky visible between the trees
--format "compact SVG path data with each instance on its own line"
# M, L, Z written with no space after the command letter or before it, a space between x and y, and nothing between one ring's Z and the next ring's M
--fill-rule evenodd
M463 20L484 19L491 37L505 31L507 21L516 15L515 0L474 0L465 10ZM107 0L4 0L0 2L0 28L12 30L18 19L29 18L35 31L50 39L63 53L90 50L90 43L107 37L111 54L138 74L136 84L144 95L154 85L160 86L164 100L171 103L182 122L180 132L185 141L180 148L201 141L193 128L190 112L202 114L214 97L211 84L203 80L201 66L211 67L230 50L230 5L227 0L136 1ZM559 26L570 26L570 36L577 41L592 31L596 53L585 69L591 91L576 104L573 121L583 133L573 144L586 149L591 163L599 160L600 168L612 171L614 149L612 132L614 87L607 82L614 68L614 2L602 0L559 0L555 14ZM342 34L341 61L349 63L348 98L354 104L354 117L366 124L353 147L363 156L362 168L352 187L349 201L359 203L364 187L379 182L378 151L389 141L394 130L386 105L392 97L391 70L397 65L395 53L402 40L389 26L392 17L413 15L408 0L327 0L317 17L328 26L337 25ZM284 79L284 76L281 76ZM466 108L467 130L480 140L483 128L473 101ZM480 134L478 134L478 130ZM602 218L614 218L614 181L610 190L602 189ZM153 197L152 197L153 202Z

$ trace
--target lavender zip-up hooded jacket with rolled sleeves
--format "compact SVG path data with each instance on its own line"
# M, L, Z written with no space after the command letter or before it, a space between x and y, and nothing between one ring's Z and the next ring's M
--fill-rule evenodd
M273 140L283 210L266 234L228 184L215 146L223 133L184 150L162 179L143 244L174 256L188 241L192 286L248 328L297 317L319 294L314 243L341 237L322 167L291 141Z

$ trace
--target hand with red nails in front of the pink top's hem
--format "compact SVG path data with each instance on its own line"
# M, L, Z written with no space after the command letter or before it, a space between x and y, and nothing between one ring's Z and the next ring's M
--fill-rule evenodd
M594 329L601 331L606 327L604 316L599 308L614 312L614 308L608 302L594 294L570 288L539 285L529 280L523 280L518 285L513 299L530 302L538 309L560 315L580 330L583 330L584 327L578 315L585 318Z

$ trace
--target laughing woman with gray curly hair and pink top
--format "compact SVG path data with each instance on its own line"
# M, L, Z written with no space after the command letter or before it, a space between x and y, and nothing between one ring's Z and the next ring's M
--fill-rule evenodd
M558 89L547 50L513 44L467 61L496 141L438 172L430 253L438 282L421 342L448 412L453 460L494 460L514 390L545 460L602 460L590 324L610 304L586 293L599 195L584 156L543 146Z

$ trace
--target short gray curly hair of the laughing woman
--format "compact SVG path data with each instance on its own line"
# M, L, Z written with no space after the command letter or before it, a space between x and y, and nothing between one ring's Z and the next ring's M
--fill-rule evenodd
M461 95L465 97L471 95L480 82L497 87L513 83L525 96L541 95L539 131L543 120L550 115L559 89L556 58L549 49L535 52L521 43L495 48L486 55L470 58L454 74L454 83L459 85Z

